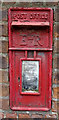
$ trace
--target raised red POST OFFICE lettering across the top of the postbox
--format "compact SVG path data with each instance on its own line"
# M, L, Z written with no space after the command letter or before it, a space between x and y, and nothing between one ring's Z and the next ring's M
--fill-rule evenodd
M36 19L48 19L48 13L14 13L12 15L12 20L36 20Z

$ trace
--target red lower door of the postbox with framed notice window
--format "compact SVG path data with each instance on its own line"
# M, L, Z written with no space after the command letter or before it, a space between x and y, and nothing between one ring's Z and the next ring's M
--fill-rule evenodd
M30 54L33 52L30 51ZM36 59L31 55L29 55L30 58L29 56L26 58L25 54L26 51L13 51L11 55L13 63L11 68L13 87L10 88L12 91L11 108L47 110L50 99L49 80L51 79L52 54L50 52L36 52Z

